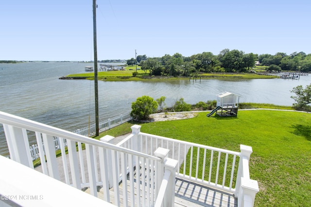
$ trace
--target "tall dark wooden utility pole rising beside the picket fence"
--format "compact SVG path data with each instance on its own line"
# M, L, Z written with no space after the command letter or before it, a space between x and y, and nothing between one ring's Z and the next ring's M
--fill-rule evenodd
M96 0L93 0L93 42L94 42L94 88L95 88L95 132L99 136L98 80L97 80L97 36L96 36Z

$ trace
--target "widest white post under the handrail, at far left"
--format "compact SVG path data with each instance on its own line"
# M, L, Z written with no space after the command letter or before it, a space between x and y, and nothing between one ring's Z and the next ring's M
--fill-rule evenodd
M26 130L6 124L3 124L3 129L10 152L10 158L34 169Z

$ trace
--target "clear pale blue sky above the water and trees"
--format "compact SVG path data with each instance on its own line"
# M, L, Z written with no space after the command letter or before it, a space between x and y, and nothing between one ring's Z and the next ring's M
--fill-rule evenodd
M92 61L92 0L1 0L0 60ZM311 53L310 0L97 0L98 60Z

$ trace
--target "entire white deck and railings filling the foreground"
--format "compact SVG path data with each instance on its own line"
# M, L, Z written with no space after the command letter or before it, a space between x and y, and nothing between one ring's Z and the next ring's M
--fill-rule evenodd
M253 207L259 191L249 175L250 146L234 152L143 133L139 125L114 144L111 136L95 140L1 111L0 123L10 152L0 156L1 207ZM31 135L42 173L34 169Z

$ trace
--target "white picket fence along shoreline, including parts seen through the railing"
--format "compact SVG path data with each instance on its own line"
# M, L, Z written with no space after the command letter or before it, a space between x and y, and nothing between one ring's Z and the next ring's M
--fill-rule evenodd
M104 120L104 121L99 123L99 131L103 132L103 131L108 130L110 128L117 127L117 126L119 126L125 122L128 122L132 119L133 118L130 115L130 113L121 114L119 116L109 118L109 119ZM86 137L93 136L93 135L95 135L95 124L92 124L90 127L84 127L84 128L77 129L77 130L73 131L73 133L80 134L80 135L83 135ZM55 146L55 151L61 149L60 148L60 141L59 141L58 137L54 137L54 146ZM64 146L67 146L66 140L64 140ZM45 153L44 143L43 143L43 151ZM33 160L40 158L39 149L38 149L37 144L33 144L30 146L30 153L31 153Z

